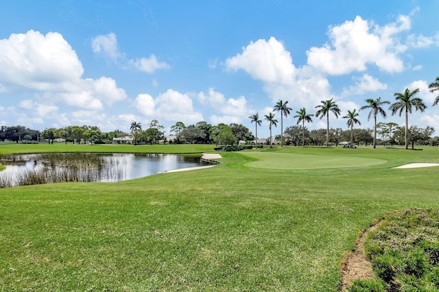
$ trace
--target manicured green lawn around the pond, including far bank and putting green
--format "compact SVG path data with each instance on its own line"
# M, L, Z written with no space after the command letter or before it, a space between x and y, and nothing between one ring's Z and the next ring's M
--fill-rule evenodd
M0 153L30 145L15 146L0 144ZM64 149L40 151L49 146ZM167 149L213 150L206 146ZM439 206L438 167L392 169L437 163L438 148L222 155L210 169L126 182L0 189L1 289L337 291L360 230L392 210Z

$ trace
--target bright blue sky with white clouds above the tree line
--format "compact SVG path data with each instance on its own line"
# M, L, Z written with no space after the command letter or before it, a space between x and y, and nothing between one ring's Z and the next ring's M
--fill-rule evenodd
M408 87L428 106L410 124L437 135L438 11L436 0L3 1L0 125L109 132L157 119L165 134L178 121L254 132L248 117L279 99L292 108L285 129L324 99L343 116ZM367 117L359 127L373 127ZM385 121L403 124L390 112ZM330 125L348 129L341 117ZM268 135L263 121L258 136Z

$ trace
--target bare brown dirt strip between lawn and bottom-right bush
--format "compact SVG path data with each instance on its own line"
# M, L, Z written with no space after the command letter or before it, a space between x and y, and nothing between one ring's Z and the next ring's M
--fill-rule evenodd
M368 232L376 230L382 219L375 222L374 225L366 228L359 233L357 241L355 242L355 250L348 252L340 265L342 273L341 291L347 291L347 287L358 279L374 279L375 276L372 271L372 264L364 255L364 241Z

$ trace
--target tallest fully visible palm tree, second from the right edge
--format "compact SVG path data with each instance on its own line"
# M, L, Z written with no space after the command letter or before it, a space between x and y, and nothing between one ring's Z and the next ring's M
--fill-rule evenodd
M423 112L427 106L423 103L423 99L419 97L414 97L416 93L419 92L419 88L416 88L413 91L410 91L409 88L405 88L404 93L394 93L396 98L396 102L391 104L389 110L392 110L392 116L399 111L399 117L403 111L405 111L405 149L408 149L408 129L409 129L409 112L412 113L412 107L415 110L420 110Z

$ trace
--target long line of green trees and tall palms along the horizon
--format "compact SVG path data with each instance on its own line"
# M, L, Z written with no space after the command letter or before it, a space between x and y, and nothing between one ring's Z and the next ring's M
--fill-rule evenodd
M439 77L436 77L435 82L429 84L431 92L439 90ZM423 112L427 106L423 99L416 97L419 93L419 88L410 90L405 88L403 93L394 93L396 101L391 104L390 101L383 101L381 97L377 99L366 99L366 105L357 109L348 110L347 114L342 117L346 119L346 124L350 128L344 131L341 128L333 129L329 127L330 114L338 117L341 115L340 108L333 99L321 101L315 114L309 114L306 108L300 108L296 111L294 118L297 119L296 125L287 127L283 130L283 117L287 118L292 111L288 106L288 101L279 100L273 108L273 112L265 114L264 119L268 121L270 128L270 137L266 140L266 144L272 146L273 141L280 141L281 146L285 143L289 145L327 145L333 143L338 145L342 141L349 141L351 145L354 143L363 143L364 145L372 144L375 148L377 145L377 135L381 136L381 143L388 143L389 145L399 144L405 145L405 149L409 144L414 147L415 144L423 145L438 145L438 137L431 137L434 134L433 127L417 127L416 125L408 126L408 117L412 110L419 110ZM439 104L439 95L434 100L433 106ZM399 127L396 123L377 123L377 117L381 116L384 119L387 117L387 112L383 108L384 105L390 105L388 110L392 115L405 115L405 126ZM361 110L370 110L368 114L368 121L373 118L374 128L370 129L355 129L354 125L361 125L359 121L359 112ZM272 127L277 126L278 120L275 119L275 112L281 112L281 134L272 137ZM313 117L320 119L326 118L327 129L307 130L305 123L311 123ZM32 141L38 142L44 139L49 143L54 143L56 139L62 139L65 143L112 143L112 138L132 136L134 145L142 144L156 144L156 143L208 143L216 145L234 145L240 141L246 143L258 144L257 130L261 126L261 119L259 114L252 114L250 122L255 125L255 135L248 130L248 128L239 123L230 123L226 125L219 123L218 125L211 125L206 121L200 121L193 125L186 126L181 121L178 121L171 127L171 136L165 136L163 125L160 125L156 119L153 119L146 130L142 129L141 123L132 122L130 125L130 133L121 130L112 132L102 132L97 126L90 125L73 125L68 127L61 127L59 129L51 127L45 129L43 132L38 130L31 130L22 125L8 127L3 125L0 128L0 141L14 141L16 143L29 143ZM301 126L298 126L301 123ZM372 135L373 134L373 135ZM261 143L262 144L262 143Z

